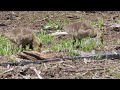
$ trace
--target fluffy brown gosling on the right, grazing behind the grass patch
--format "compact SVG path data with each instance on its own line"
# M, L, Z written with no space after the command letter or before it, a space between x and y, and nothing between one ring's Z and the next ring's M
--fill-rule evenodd
M94 29L87 22L76 22L63 27L65 32L67 32L76 42L76 39L81 40L82 38L99 38L103 42L103 34L100 30ZM73 42L74 43L74 42Z

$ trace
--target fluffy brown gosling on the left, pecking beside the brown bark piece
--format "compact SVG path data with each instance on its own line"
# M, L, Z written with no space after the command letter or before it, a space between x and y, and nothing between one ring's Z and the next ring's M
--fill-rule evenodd
M40 39L29 28L18 27L4 33L3 36L15 43L17 47L21 45L22 49L26 49L26 46L29 45L29 49L41 51L42 43Z

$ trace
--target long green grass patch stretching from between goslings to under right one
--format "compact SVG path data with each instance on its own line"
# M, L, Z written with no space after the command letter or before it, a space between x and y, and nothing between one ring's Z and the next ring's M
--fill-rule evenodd
M50 46L49 49L53 50L55 52L59 51L68 51L70 55L76 55L77 53L74 52L76 50L76 46L79 46L77 50L82 50L85 52L92 51L96 46L101 45L101 42L99 40L94 40L92 38L85 38L81 40L81 43L79 40L76 40L74 46L73 46L73 40L72 39L57 39L56 37L51 37L48 34L45 34L44 32L37 34L42 43L46 46ZM78 54L77 54L78 55Z

